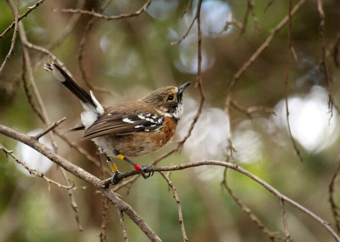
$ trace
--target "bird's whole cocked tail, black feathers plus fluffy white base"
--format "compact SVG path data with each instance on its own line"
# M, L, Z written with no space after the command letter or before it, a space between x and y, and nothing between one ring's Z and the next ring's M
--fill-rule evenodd
M85 112L82 113L82 123L87 129L93 122L104 113L104 108L97 101L92 91L90 94L81 88L61 67L53 62L47 62L44 69L51 73L61 84L70 90L76 97L81 100ZM82 127L75 127L74 130L79 130ZM71 131L74 131L73 129Z

